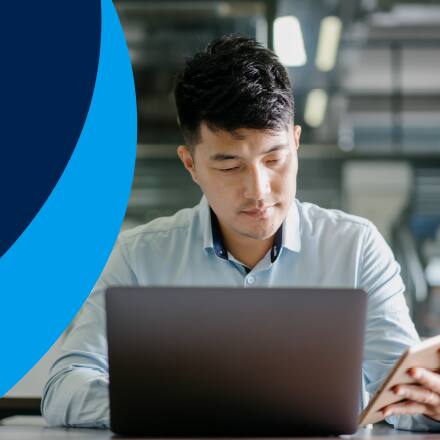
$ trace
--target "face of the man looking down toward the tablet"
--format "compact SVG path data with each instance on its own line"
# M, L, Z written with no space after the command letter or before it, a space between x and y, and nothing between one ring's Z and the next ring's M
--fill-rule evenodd
M275 234L295 197L300 134L293 125L231 134L202 124L193 156L184 146L178 154L223 230L264 240Z

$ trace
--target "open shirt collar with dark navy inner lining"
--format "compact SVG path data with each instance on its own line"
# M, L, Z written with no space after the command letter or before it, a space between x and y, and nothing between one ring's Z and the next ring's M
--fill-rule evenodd
M223 243L217 217L205 196L200 201L199 216L203 231L203 248L213 249L218 257L227 260L228 251ZM301 249L299 211L295 200L289 209L286 220L275 234L270 254L272 263L277 259L282 248L287 248L293 252L299 252Z

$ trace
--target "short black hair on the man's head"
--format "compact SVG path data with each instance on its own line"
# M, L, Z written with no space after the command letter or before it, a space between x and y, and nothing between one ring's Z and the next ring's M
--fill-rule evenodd
M277 56L251 38L225 35L189 59L175 82L179 124L188 146L200 124L281 130L293 121L292 89Z

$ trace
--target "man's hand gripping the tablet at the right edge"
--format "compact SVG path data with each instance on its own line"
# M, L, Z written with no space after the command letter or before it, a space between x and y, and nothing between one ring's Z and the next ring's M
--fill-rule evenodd
M382 408L385 417L392 414L424 414L440 422L440 374L426 368L410 368L413 384L401 384L392 391L402 397L402 402Z

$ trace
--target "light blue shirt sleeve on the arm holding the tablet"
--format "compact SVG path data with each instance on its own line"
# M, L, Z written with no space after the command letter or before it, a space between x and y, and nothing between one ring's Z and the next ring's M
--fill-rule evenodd
M359 278L368 293L363 375L371 396L401 354L420 340L404 298L400 266L373 225L364 237ZM386 421L397 429L440 431L440 422L423 415L390 416Z

